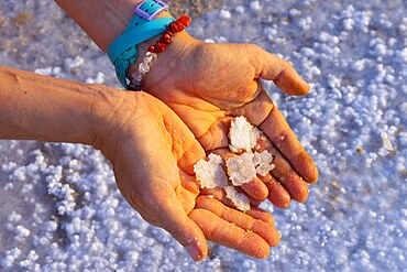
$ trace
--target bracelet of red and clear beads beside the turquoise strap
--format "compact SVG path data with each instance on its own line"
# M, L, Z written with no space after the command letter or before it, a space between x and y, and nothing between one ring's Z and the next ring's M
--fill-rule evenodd
M139 64L138 70L131 75L131 88L136 90L141 89L143 77L150 72L150 67L157 58L157 55L165 51L174 34L184 31L189 24L190 18L188 15L180 15L175 22L168 24L162 37L154 45L148 46L143 62Z

